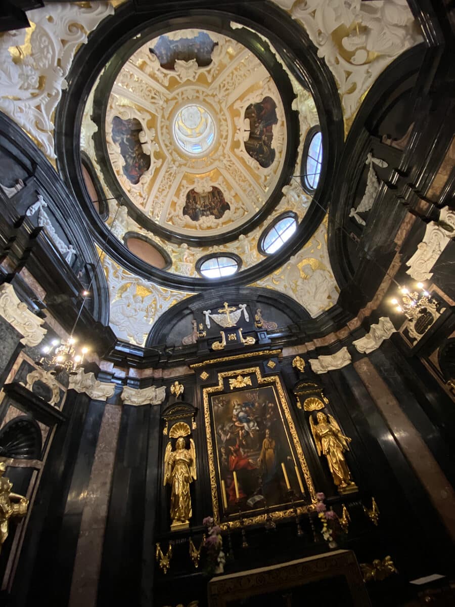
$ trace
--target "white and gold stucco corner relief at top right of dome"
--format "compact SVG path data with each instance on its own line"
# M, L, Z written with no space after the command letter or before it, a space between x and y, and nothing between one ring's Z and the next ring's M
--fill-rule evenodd
M421 41L406 0L274 0L308 32L339 85L345 118L401 53ZM367 6L368 5L368 6Z

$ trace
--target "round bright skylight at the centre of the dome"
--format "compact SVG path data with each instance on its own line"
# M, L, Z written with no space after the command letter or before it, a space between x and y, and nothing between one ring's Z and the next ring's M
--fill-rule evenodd
M174 137L186 154L204 154L215 141L214 119L205 107L194 104L184 106L174 118Z

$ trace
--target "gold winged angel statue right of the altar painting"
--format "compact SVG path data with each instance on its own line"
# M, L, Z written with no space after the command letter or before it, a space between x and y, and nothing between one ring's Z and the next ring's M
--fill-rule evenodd
M317 424L313 418L309 418L311 432L314 436L317 453L320 456L325 455L332 473L335 485L340 493L349 493L357 490L357 486L352 482L351 472L343 453L349 451L351 439L345 436L335 419L329 415L329 421L325 413L319 411L316 414Z

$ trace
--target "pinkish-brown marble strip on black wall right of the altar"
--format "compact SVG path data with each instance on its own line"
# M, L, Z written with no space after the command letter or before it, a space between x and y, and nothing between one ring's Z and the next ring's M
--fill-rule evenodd
M430 496L450 537L455 540L455 491L434 459L400 404L368 358L354 362L354 368L365 384L387 422L400 449L413 467L417 478Z

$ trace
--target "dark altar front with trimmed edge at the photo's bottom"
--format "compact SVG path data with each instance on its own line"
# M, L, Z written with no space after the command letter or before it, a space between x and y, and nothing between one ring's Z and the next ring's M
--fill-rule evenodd
M212 578L209 607L276 605L369 607L356 555L337 550L308 558Z

